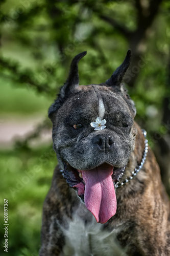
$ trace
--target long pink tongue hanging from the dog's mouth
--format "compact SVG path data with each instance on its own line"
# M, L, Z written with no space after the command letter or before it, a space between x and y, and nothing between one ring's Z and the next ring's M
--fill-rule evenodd
M102 164L82 170L85 181L84 202L97 222L105 223L116 213L116 195L112 181L113 167Z

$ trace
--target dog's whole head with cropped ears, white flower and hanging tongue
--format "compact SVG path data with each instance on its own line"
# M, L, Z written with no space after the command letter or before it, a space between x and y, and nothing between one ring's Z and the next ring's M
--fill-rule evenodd
M122 84L131 51L105 83L79 86L78 62L84 55L72 60L48 114L66 182L96 221L105 223L116 212L114 185L122 178L136 135L135 106Z

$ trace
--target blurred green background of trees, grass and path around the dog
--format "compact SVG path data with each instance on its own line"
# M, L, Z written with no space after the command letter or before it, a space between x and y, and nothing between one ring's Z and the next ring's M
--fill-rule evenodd
M0 11L0 254L5 198L9 255L38 255L57 163L47 109L82 51L80 84L90 84L106 81L132 50L125 82L170 194L170 2L1 0Z

